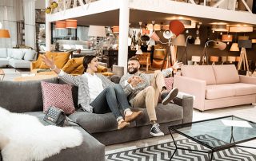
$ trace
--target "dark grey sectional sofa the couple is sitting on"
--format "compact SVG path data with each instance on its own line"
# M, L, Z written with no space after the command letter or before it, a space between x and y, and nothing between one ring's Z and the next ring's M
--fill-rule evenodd
M64 84L57 78L46 81ZM142 117L132 122L130 128L118 131L117 123L112 113L94 114L82 112L76 105L78 103L78 88L73 87L72 90L77 112L69 117L86 129L87 132L77 127L82 131L84 141L81 146L62 150L60 154L46 160L104 160L104 144L110 145L152 137L150 135L150 121L145 108L133 108L134 111L143 110ZM0 91L0 106L7 108L10 112L26 112L42 120L44 114L42 113L40 81L0 81ZM191 122L192 109L193 97L191 96L183 96L182 99L175 98L174 104L166 106L158 104L156 112L162 132L168 134L167 127L169 125Z

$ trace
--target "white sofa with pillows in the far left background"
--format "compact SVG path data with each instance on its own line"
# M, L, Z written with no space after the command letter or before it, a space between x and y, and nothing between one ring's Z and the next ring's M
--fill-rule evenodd
M0 48L0 67L10 65L14 68L30 68L31 61L37 59L32 49Z

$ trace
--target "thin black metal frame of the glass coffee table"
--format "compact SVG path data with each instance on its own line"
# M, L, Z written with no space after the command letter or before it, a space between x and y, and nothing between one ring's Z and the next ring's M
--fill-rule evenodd
M207 153L207 154L208 154L208 158L209 158L210 161L213 160L213 158L214 158L214 152L222 151L222 150L225 150L225 149L230 149L231 147L246 147L246 148L256 149L256 147L247 147L247 146L238 145L239 143L245 143L245 142L247 142L247 141L254 140L254 139L256 139L256 137L250 138L250 139L243 139L243 140L240 140L240 141L238 141L238 142L235 142L235 141L234 141L234 137L233 137L233 127L231 127L230 143L226 143L225 145L222 145L222 146L219 146L219 147L210 147L210 145L208 145L208 144L206 144L206 143L203 143L202 141L199 141L198 139L194 139L194 137L191 137L190 135L186 135L186 134L184 134L183 132L179 132L179 131L178 131L178 128L186 128L186 127L190 127L192 124L201 123L201 122L206 122L206 121L210 121L210 120L225 119L225 118L227 118L227 117L232 117L232 120L233 120L233 117L235 117L235 118L238 118L238 119L240 119L240 120L245 120L245 121L250 122L250 123L252 123L252 124L256 124L256 123L253 122L253 121L246 120L246 119L242 119L242 118L240 118L240 117L238 117L238 116L223 116L223 117L218 117L218 118L209 119L209 120L200 120L200 121L195 121L195 122L186 123L186 124L178 124L178 125L174 125L174 126L169 126L168 129L169 129L171 138L173 139L174 146L175 146L174 153L171 155L170 160L174 157L174 155L175 155L176 151L178 151L178 149L179 149L179 150L184 150L184 151L198 151L198 152L202 152L202 153ZM174 139L174 136L172 135L172 132L176 132L176 133L178 133L178 134L180 134L180 135L183 135L183 136L185 136L187 139L191 139L191 140L193 140L194 142L199 143L200 145L209 148L210 151L200 151L200 150L186 149L186 148L178 147L178 146L177 146L177 143L176 143L176 141L175 141L175 139ZM231 143L231 141L234 141L234 142Z

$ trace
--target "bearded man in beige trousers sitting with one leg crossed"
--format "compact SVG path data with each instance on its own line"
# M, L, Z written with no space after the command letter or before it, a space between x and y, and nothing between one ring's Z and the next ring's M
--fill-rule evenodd
M164 77L169 75L173 69L180 68L181 65L182 63L176 62L170 69L162 72L155 71L154 74L145 74L138 71L140 64L137 58L132 57L128 61L128 73L121 78L120 84L124 88L132 107L146 108L152 124L150 135L164 135L157 124L155 107L158 104L159 95L164 105L177 96L178 88L174 88L170 92L166 90Z

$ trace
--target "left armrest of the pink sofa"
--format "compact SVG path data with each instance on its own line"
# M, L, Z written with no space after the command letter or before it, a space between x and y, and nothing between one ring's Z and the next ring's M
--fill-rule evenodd
M194 108L204 111L206 81L175 75L174 87L178 88L180 92L186 92L195 96Z

